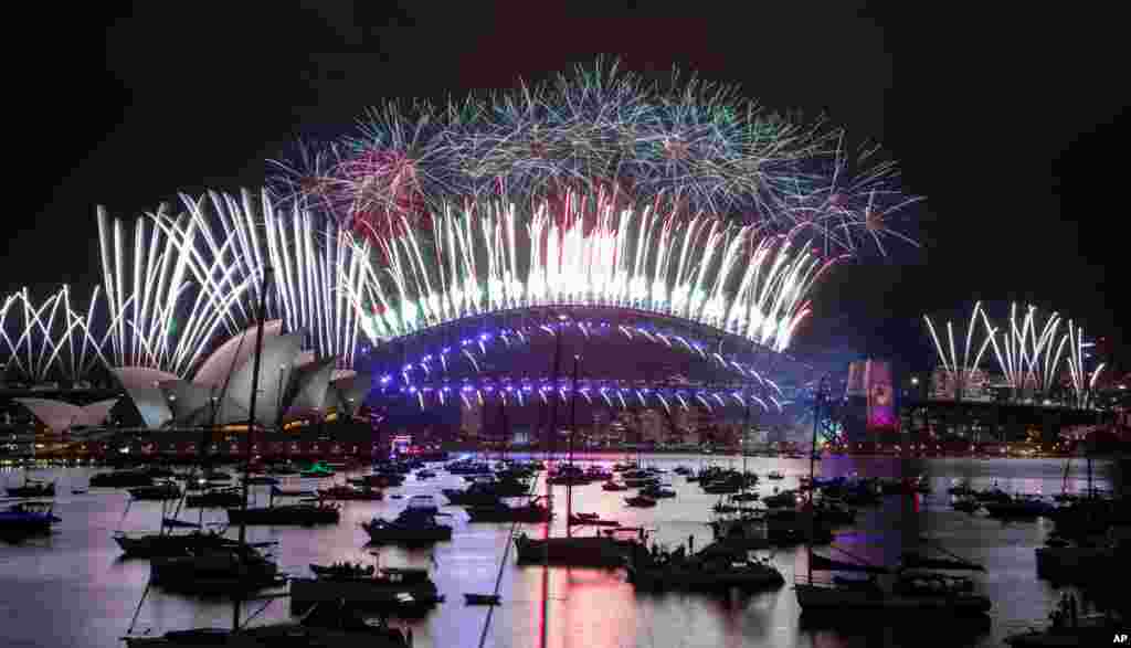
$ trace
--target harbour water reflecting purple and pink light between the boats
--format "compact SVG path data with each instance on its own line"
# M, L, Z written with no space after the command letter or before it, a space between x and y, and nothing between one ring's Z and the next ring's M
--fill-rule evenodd
M521 458L521 457L516 457ZM623 455L587 456L580 463L596 460L606 465ZM636 457L631 457L634 459ZM641 461L662 469L683 465L741 468L741 457L645 455ZM759 490L794 489L809 474L808 459L748 458L746 468L760 477ZM783 571L786 585L780 589L740 596L711 597L691 594L637 594L625 582L623 570L543 569L518 567L513 552L507 556L501 581L502 605L494 610L485 640L481 637L487 607L467 607L464 593L492 591L500 561L508 544L509 524L467 521L457 507L447 524L455 527L452 541L434 550L407 551L385 547L374 558L365 548L368 536L360 522L373 516L392 517L415 494L439 494L442 487L460 487L458 476L439 472L437 478L417 482L409 477L404 486L390 489L381 502L343 502L340 524L331 527L249 527L251 541L277 541L274 555L283 571L308 576L309 563L351 560L385 567L429 567L447 602L423 620L411 623L414 645L429 647L497 646L513 648L683 648L719 646L797 646L847 648L855 646L1002 646L1002 638L1027 627L1043 625L1046 614L1060 596L1052 585L1037 580L1034 548L1041 546L1052 522L1002 522L950 510L947 487L955 479L969 479L975 487L994 482L1008 492L1061 492L1064 460L1055 459L925 459L831 457L817 464L821 476L912 476L925 475L932 494L918 498L892 495L878 507L862 509L851 528L837 534L836 545L865 560L893 562L901 547L926 536L947 551L979 562L986 573L976 574L981 589L993 599L991 622L967 628L940 623L936 627L890 623L861 623L852 627L810 625L801 619L792 589L793 574L806 569L804 547L777 550L774 561ZM770 482L770 470L785 479ZM87 467L32 470L36 478L57 481L55 515L62 518L52 535L16 544L0 543L0 623L3 645L8 647L98 647L121 646L120 637L137 613L137 629L154 633L192 627L228 627L232 605L223 599L201 601L150 589L138 608L149 576L145 560L123 561L112 539L115 530L148 533L161 520L159 502L132 502L124 491L92 489L85 494L72 490L87 487L95 470ZM1119 491L1123 478L1114 464L1094 464L1097 489ZM336 479L340 481L339 474ZM625 493L605 492L598 484L573 489L573 511L596 512L620 520L625 526L655 529L654 538L672 548L694 537L696 547L710 541L710 507L717 495L707 495L697 484L668 472L679 496L662 500L653 509L630 509ZM3 485L17 485L24 469L0 472ZM284 487L312 489L329 485L329 479L285 477ZM259 501L266 500L268 486L254 486ZM1071 463L1069 492L1085 492L1087 472L1083 460ZM558 520L553 533L564 534L564 486L555 486ZM544 492L544 491L539 491ZM631 493L628 493L631 494ZM128 510L127 510L128 508ZM190 510L182 518L196 520ZM221 510L209 510L204 520L224 521ZM541 536L541 525L527 529ZM232 532L234 534L234 529ZM575 529L593 534L593 529ZM285 619L286 598L248 602L244 617L254 621ZM261 611L260 611L261 610ZM394 621L394 623L400 623ZM545 639L543 639L545 638ZM543 643L543 640L545 643Z

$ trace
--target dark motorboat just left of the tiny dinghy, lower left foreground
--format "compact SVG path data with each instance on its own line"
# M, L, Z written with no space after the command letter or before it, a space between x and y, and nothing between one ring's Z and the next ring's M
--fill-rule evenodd
M416 616L443 602L443 597L426 569L325 571L314 578L291 579L291 610L296 614L314 604L338 602L355 608Z

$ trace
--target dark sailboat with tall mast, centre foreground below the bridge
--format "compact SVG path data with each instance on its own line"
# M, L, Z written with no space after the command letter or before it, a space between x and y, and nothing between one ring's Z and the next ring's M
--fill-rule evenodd
M558 348L554 353L554 380L558 379L558 368L561 356L561 334L558 335ZM573 395L570 404L569 466L573 466L573 433L577 431L577 379L580 368L580 356L573 356ZM555 416L551 415L550 426L554 429ZM551 496L551 485L546 484L546 496ZM515 538L515 550L518 562L559 564L569 567L620 567L637 552L647 551L644 545L642 528L605 529L596 536L575 537L573 521L573 484L566 483L566 537L532 538L525 533Z

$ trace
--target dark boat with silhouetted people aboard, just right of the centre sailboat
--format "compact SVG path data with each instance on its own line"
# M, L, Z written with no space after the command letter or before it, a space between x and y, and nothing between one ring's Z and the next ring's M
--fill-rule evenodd
M673 553L639 553L628 567L629 582L650 591L727 591L732 588L766 589L780 587L785 578L768 560L750 560L744 548L709 545L696 555L685 547Z

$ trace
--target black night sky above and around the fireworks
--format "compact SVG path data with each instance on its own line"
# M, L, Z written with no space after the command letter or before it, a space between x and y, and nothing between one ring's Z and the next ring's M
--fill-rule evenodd
M50 6L23 23L43 40L9 55L9 141L24 144L10 156L19 183L0 287L97 280L95 205L131 215L179 190L253 188L265 157L296 135L347 132L369 105L506 88L605 53L827 112L881 140L908 191L929 197L923 249L839 268L808 345L926 358L921 313L960 316L975 299L1031 301L1123 337L1129 93L1116 16L983 12L988 2L753 3L709 18L611 2L411 2L395 16L370 8L385 2L242 5Z

